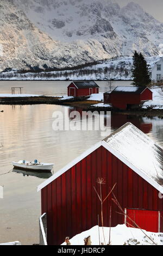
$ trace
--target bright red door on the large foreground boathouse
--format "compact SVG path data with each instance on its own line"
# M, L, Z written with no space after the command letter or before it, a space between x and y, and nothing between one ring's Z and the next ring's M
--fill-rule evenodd
M160 232L159 211L126 209L126 214L124 223L127 227L137 228L136 223L141 229L145 229L146 231Z

